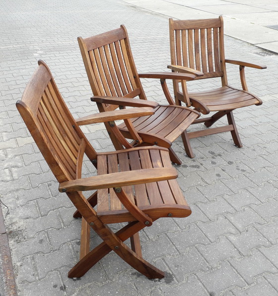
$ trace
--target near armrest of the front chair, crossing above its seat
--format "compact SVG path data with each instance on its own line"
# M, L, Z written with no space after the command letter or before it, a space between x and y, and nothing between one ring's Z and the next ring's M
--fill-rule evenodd
M121 187L175 179L177 177L178 173L174 168L143 169L66 181L59 185L59 191L86 191L93 189Z

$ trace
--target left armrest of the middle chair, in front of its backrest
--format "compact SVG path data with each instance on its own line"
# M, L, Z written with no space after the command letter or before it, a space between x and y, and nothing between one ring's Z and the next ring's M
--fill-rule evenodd
M125 98L125 97L105 97L105 96L95 96L91 98L92 102L112 104L119 106L129 106L129 107L158 107L158 103L151 102L147 100L140 100L134 98Z

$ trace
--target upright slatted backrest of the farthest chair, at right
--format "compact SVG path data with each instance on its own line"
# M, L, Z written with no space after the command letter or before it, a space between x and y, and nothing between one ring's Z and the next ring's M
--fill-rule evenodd
M196 79L221 77L226 83L223 18L169 19L171 64L202 71Z

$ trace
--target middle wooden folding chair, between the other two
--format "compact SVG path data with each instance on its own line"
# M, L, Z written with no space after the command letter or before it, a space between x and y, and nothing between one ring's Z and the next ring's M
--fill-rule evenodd
M78 37L81 55L94 97L100 112L120 109L126 106L144 106L147 102L140 78L158 78L169 105L159 105L155 114L148 117L127 119L116 125L106 123L106 129L115 149L157 145L170 151L172 162L181 164L171 148L173 141L182 136L187 147L186 128L200 116L198 112L175 106L168 91L165 79L195 78L193 74L152 72L138 74L131 52L125 26L83 39ZM133 98L139 97L141 100ZM128 130L130 128L130 131ZM126 139L133 139L129 143Z

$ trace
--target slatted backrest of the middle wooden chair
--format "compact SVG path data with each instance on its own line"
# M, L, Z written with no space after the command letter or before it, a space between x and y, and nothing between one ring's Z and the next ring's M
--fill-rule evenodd
M120 28L77 38L91 89L95 96L127 97L146 100L132 56L128 33ZM104 105L104 111L118 106Z

